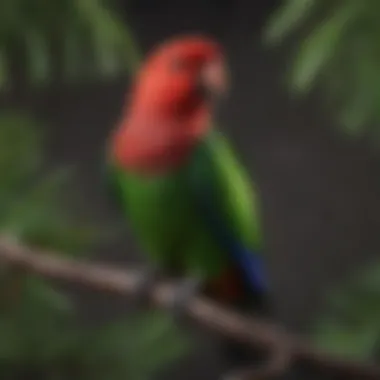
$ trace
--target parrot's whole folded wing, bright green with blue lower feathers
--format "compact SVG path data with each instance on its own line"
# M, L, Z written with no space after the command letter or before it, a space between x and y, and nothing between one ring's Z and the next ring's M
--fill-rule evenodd
M265 294L259 202L249 178L222 135L213 133L199 147L190 188L207 230L238 268L251 294Z

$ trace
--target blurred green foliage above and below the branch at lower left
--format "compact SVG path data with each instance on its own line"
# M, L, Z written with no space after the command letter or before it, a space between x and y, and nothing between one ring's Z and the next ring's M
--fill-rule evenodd
M0 117L0 233L79 254L113 231L105 233L104 226L80 221L67 211L69 172L45 173L42 142L30 119L13 113ZM2 378L143 380L186 348L160 313L139 314L100 329L80 328L75 305L49 282L1 269Z

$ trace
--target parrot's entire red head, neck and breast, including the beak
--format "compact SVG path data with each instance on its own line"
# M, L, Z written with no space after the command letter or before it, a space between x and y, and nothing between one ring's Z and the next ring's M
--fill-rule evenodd
M118 161L139 169L175 166L210 127L210 95L226 85L215 41L185 36L158 46L137 75L116 136Z

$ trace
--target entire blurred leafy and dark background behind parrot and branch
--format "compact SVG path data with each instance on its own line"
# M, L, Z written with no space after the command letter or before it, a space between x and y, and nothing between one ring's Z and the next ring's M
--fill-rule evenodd
M326 350L376 360L377 11L378 1L357 0L3 0L2 233L117 266L139 261L108 199L104 144L141 57L173 35L209 34L232 77L218 122L262 191L279 321ZM215 339L199 328L189 342L162 313L3 264L0 281L2 379L222 372Z

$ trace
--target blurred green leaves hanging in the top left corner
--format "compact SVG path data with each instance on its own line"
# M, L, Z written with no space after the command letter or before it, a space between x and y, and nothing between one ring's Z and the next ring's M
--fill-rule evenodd
M138 61L131 32L111 0L3 0L0 2L0 89L12 67L30 84L48 83L57 63L65 79L114 76ZM17 73L18 75L20 73Z

